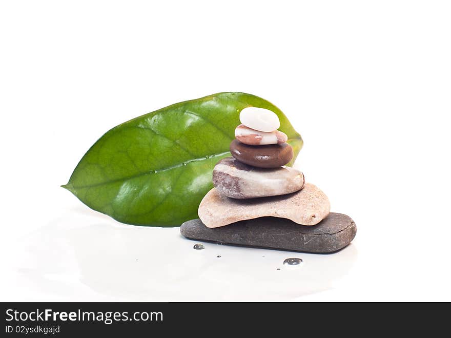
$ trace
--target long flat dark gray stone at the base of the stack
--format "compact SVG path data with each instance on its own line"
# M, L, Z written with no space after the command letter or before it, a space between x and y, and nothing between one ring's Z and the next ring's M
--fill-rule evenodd
M196 218L180 226L180 233L192 240L314 253L338 251L351 243L356 232L351 217L336 212L313 226L277 217L260 217L219 228L207 228Z

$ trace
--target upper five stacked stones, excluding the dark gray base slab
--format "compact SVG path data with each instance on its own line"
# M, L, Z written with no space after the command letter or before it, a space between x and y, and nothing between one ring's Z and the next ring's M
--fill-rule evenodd
M286 167L293 158L288 137L277 130L279 118L267 109L246 108L230 144L233 157L219 161L213 184L199 206L200 220L210 228L262 216L289 218L315 225L330 212L327 196L305 184L299 170Z

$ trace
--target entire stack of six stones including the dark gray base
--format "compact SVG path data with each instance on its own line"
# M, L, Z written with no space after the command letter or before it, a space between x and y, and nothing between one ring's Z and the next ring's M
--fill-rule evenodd
M201 201L200 219L180 227L183 236L221 244L327 253L353 240L351 217L330 213L329 198L285 166L293 158L278 116L245 108L230 144L232 157L213 170L214 188ZM277 218L273 218L277 217Z

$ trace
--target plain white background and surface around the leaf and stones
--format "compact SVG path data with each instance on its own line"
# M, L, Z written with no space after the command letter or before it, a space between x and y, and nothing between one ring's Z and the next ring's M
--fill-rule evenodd
M0 300L451 301L450 17L446 1L2 1ZM221 91L290 118L296 167L357 224L350 247L195 251L59 187L111 127ZM305 264L277 271L289 256Z

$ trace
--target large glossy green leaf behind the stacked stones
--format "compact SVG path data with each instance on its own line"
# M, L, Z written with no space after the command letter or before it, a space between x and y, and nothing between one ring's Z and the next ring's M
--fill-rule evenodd
M230 156L245 107L270 109L279 116L279 130L294 149L292 165L302 138L276 106L251 94L219 93L114 127L81 158L63 187L119 222L179 226L197 218L202 197L213 187L213 167Z

